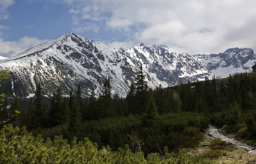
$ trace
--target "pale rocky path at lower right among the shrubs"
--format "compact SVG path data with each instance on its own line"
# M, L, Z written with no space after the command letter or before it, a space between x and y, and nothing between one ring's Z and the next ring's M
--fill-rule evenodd
M207 135L209 137L212 137L214 139L220 139L222 141L227 141L235 146L238 146L240 148L244 148L246 151L248 151L251 154L256 154L256 149L252 146L248 146L245 143L242 143L240 141L237 141L235 139L226 137L225 135L222 135L218 132L218 129L212 125L209 126L209 130L207 131Z

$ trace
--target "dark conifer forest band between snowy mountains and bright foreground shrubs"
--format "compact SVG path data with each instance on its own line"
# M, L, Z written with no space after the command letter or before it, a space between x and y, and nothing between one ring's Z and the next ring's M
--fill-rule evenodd
M40 94L23 102L5 100L1 120L7 113L21 111L9 123L27 126L34 136L54 139L62 135L71 143L74 137L83 141L88 137L99 148L112 150L129 146L131 151L176 151L197 146L209 124L227 125L227 131L256 139L256 73L237 74L227 79L197 81L175 87L151 90L144 80L142 68L136 83L130 86L126 98L111 95L110 79L105 78L103 94L94 92L88 98L81 89L63 96L62 88L53 92L50 101ZM11 107L8 104L12 102ZM20 104L27 103L27 109Z

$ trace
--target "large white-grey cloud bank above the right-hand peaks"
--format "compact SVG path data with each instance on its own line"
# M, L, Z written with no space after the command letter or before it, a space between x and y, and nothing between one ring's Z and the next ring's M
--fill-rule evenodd
M233 46L256 50L255 0L65 2L72 6L75 26L84 31L123 31L129 42L165 44L190 54L218 53Z

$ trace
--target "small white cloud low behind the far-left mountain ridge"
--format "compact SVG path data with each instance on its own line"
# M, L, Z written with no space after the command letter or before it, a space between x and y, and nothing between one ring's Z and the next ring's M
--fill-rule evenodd
M18 55L29 48L31 46L36 46L42 42L46 42L47 40L40 40L34 37L23 37L18 41L5 41L0 38L0 55L4 57L11 57L14 55Z

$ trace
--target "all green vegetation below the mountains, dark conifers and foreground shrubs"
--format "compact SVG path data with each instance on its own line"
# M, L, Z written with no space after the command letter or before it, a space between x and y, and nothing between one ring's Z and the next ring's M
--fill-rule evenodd
M17 131L14 135L17 140L11 149L12 153L21 154L18 159L29 155L22 152L25 150L16 152L20 147L15 146L21 143L37 144L42 148L31 148L30 156L38 160L34 163L47 163L47 160L63 160L62 163L72 163L72 160L78 160L77 163L90 160L90 163L113 163L111 161L115 160L118 161L116 163L182 163L182 160L208 163L208 159L225 155L222 150L229 145L214 141L209 146L211 150L200 156L190 155L183 148L196 148L209 124L225 125L228 133L237 133L238 137L255 141L256 73L196 83L188 81L188 84L157 87L155 90L149 89L144 78L140 68L136 83L131 84L126 98L111 95L109 78L105 78L103 94L99 97L92 91L90 97L84 98L81 87L77 86L77 91L66 98L58 88L50 102L42 98L38 84L36 96L27 102L27 109L10 120L17 128L2 126L5 147L1 156L11 151L5 141L6 131ZM14 100L8 110L18 111L18 104L19 101ZM3 109L7 109L7 105L5 101ZM1 120L6 118L2 116ZM33 135L27 133L23 126ZM21 141L23 133L27 135L25 138L31 139ZM55 155L47 154L51 149L56 150ZM92 154L82 154L88 153L84 151ZM41 153L41 157L36 157L37 153ZM49 157L44 159L42 156Z

